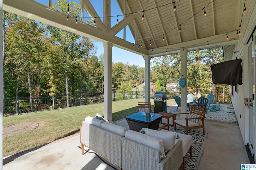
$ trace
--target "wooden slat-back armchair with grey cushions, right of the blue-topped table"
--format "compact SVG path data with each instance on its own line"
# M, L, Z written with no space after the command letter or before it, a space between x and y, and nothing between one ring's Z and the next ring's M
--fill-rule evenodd
M186 129L186 135L188 135L189 129L203 128L203 134L205 134L204 132L205 111L206 111L206 108L191 105L189 114L188 113L174 114L174 129L176 130L176 125L179 125L180 127L183 127ZM188 114L188 118L176 120L176 115L180 115L180 114Z

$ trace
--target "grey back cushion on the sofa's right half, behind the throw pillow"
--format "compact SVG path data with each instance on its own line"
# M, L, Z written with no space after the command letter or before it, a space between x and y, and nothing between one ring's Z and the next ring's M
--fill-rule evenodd
M142 133L139 133L136 131L132 131L132 130L126 131L125 137L159 150L161 158L163 158L165 156L164 145L163 145L162 139L157 139L157 138L151 137L149 135L145 135L145 134L142 134Z

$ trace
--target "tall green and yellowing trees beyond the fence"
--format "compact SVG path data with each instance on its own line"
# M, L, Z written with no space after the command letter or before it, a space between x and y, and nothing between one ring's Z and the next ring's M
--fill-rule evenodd
M66 0L52 8L66 13ZM70 15L78 16L80 5L70 2ZM104 55L87 37L40 23L10 12L3 12L4 94L18 96L56 96L103 92ZM93 25L91 20L85 21ZM188 90L210 91L226 86L212 84L210 65L223 61L222 48L188 52ZM150 81L154 90L165 91L180 78L180 54L151 59ZM144 68L129 63L112 63L112 90L131 91L144 82ZM179 86L177 89L179 90ZM52 100L54 98L52 97Z

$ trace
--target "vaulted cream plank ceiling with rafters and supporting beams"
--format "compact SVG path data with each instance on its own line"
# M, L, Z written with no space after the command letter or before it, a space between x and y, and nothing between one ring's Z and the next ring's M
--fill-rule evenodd
M80 0L80 2L92 19L98 16L90 0ZM106 2L110 3L110 0ZM244 6L241 0L176 0L175 3L174 0L117 0L117 2L125 18L112 28L106 25L110 22L105 23L99 20L96 27L86 23L67 22L63 20L66 14L56 12L49 6L43 6L32 0L18 2L3 0L3 8L98 41L110 41L116 47L140 55L157 57L166 55L166 51L176 53L182 49L191 51L224 46L224 50L228 49L225 55L229 59L233 56L240 37L236 33ZM206 16L204 16L204 10ZM144 20L142 20L143 11ZM104 14L108 15L107 12ZM75 19L70 18L70 20ZM115 36L127 25L136 42L134 47L134 42Z

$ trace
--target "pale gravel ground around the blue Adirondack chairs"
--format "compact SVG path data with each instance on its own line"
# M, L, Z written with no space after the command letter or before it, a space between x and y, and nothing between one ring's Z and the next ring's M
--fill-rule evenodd
M180 113L180 107L178 108L178 110L176 110L177 106L178 105L168 106L167 112ZM189 113L190 111L187 109L187 112ZM211 112L210 110L208 110L207 114L205 115L205 119L236 123L237 120L234 113L235 112L232 104L220 104L220 111Z

